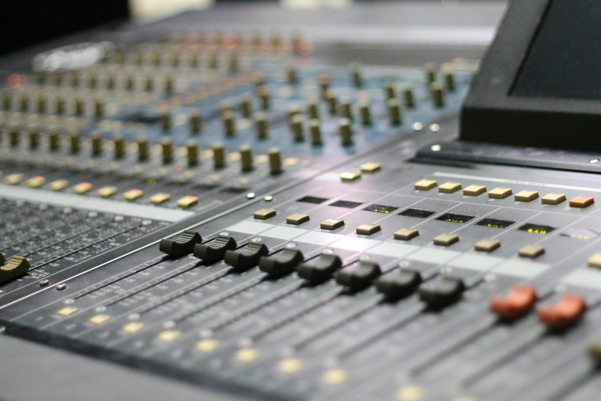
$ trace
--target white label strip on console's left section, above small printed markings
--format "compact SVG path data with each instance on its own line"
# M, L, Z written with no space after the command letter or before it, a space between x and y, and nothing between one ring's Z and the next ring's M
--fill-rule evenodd
M46 191L45 189L25 188L0 184L0 197L23 199L35 203L58 204L77 209L96 210L97 212L115 213L117 215L141 217L162 221L180 221L194 212L187 210L168 209L166 207L117 201L103 198L86 197L69 194L68 192Z

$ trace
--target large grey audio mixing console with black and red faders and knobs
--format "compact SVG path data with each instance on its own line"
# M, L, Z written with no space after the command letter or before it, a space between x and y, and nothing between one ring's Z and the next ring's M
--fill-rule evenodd
M240 399L598 399L595 149L457 141L471 61L152 38L5 74L5 334Z

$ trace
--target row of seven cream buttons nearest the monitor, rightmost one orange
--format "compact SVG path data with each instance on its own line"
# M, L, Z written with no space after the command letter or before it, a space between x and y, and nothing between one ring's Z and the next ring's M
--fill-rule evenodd
M461 183L458 182L445 182L441 185L438 185L436 180L419 180L415 183L414 188L418 191L429 191L432 188L438 186L438 192L444 192L445 194L453 194L453 192L459 191L462 188ZM469 185L466 188L463 188L463 195L468 196L478 196L484 194L486 192L486 186L483 185ZM509 195L513 194L511 188L494 188L488 191L489 198L494 199L504 199ZM514 195L514 200L520 202L530 202L538 198L537 191L520 191ZM544 197L540 198L541 203L543 204L560 204L561 202L566 200L566 195L564 194L547 194ZM570 207L587 207L594 203L594 198L577 196L575 198L570 199L569 205Z

